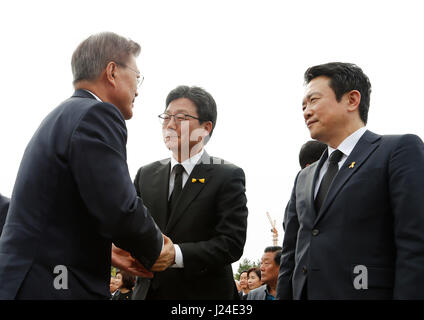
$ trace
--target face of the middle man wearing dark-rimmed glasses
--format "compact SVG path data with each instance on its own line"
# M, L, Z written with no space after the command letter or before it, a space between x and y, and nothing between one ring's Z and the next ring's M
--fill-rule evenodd
M189 99L179 98L171 101L165 110L169 115L186 114L198 118L196 105ZM191 156L192 148L202 143L203 137L208 132L204 129L205 122L200 124L199 120L187 117L187 120L177 121L171 117L162 126L162 134L166 147L174 155L180 154L187 159Z

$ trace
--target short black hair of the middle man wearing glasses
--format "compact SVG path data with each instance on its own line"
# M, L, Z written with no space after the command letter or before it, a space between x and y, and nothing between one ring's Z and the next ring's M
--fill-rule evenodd
M200 119L200 123L203 123L205 121L212 122L212 130L209 134L209 137L205 139L206 144L209 138L212 136L212 132L216 125L217 110L214 98L209 92L207 92L201 87L178 86L174 90L172 90L166 97L165 109L172 101L180 98L189 99L194 103L194 105L196 106L197 115Z

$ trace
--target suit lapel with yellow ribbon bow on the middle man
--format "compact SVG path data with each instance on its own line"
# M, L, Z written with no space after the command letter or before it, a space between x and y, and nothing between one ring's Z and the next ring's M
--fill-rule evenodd
M211 170L213 168L212 165L208 165L210 162L210 157L204 152L202 158L193 168L190 176L187 179L186 184L182 190L181 196L178 199L176 204L176 208L174 212L172 212L171 217L169 218L169 222L166 226L165 233L168 234L171 229L175 226L177 221L181 219L184 215L187 207L190 203L197 197L197 195L202 191L202 189L209 183L209 180L212 177ZM195 178L197 181L195 183L192 182L192 179ZM199 179L205 179L204 183L201 183Z

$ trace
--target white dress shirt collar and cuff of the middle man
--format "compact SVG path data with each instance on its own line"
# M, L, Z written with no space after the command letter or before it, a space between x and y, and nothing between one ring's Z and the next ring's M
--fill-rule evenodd
M177 164L181 164L184 167L183 171L183 185L182 188L184 188L188 177L190 176L191 172L194 169L194 166L199 162L200 158L203 156L203 153L205 153L205 150L202 149L199 153L195 154L191 158L179 163L177 160L175 160L174 157L171 157L171 173L169 175L169 193L168 193L168 201L171 197L172 191L174 190L174 183L175 183L175 170L174 167ZM183 261L183 253L181 252L181 248L178 244L174 243L175 247L175 263L171 266L171 268L184 268L184 261Z

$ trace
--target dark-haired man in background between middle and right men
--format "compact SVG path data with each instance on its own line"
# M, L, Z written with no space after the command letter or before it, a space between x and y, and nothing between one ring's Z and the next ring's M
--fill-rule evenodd
M259 288L251 290L247 300L275 300L278 271L280 269L281 247L266 247L261 259L261 281Z

